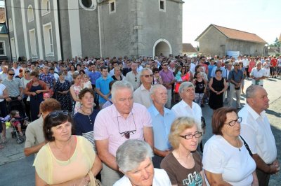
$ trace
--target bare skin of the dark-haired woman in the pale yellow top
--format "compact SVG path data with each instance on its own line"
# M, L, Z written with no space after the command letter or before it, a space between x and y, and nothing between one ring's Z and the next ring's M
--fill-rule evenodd
M69 160L76 149L77 142L75 140L75 137L71 135L71 128L72 124L68 121L51 128L55 141L49 142L49 146L55 158L60 161ZM60 136L61 134L64 134L64 136ZM100 162L100 159L98 158L98 156L96 156L95 161L93 162L93 166L91 168L93 176L96 176L98 172L102 169L102 167L103 166ZM65 183L60 183L56 185L88 185L89 182L90 178L88 175L86 175L83 178L76 178L74 180L70 180ZM35 172L35 184L37 186L48 185L44 180L42 180L38 176L37 172Z

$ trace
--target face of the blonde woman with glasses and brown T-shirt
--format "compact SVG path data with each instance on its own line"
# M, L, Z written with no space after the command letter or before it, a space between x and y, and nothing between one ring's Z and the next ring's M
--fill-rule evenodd
M196 134L198 133L198 129L197 129L197 124L193 124L193 126L189 129L185 129L180 135L181 136L185 136L188 134ZM197 145L200 141L200 138L195 138L195 136L192 136L191 139L185 139L185 138L181 138L180 137L180 141L179 141L179 148L183 148L185 150L188 151L195 151L197 148Z

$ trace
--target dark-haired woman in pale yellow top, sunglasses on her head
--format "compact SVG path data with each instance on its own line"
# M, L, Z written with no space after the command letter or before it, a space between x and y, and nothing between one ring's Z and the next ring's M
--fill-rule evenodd
M93 145L82 136L72 135L72 117L57 110L44 119L46 141L34 160L36 185L94 185L102 169Z

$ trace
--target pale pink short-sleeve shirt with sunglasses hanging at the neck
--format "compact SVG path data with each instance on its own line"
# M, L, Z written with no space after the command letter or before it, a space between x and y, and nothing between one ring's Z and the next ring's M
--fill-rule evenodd
M117 148L128 140L125 136L119 134L119 131L122 133L136 130L134 134L130 134L130 139L144 140L143 127L152 127L150 113L145 106L133 103L133 109L125 119L112 104L100 110L96 116L93 133L95 140L108 139L108 151L116 156Z

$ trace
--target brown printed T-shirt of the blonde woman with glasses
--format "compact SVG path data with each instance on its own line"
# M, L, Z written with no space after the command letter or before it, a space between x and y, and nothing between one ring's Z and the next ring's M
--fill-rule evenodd
M202 160L199 153L192 152L195 166L187 169L182 166L173 152L169 153L161 162L161 168L168 173L172 185L203 185L203 179L200 174L202 171Z

